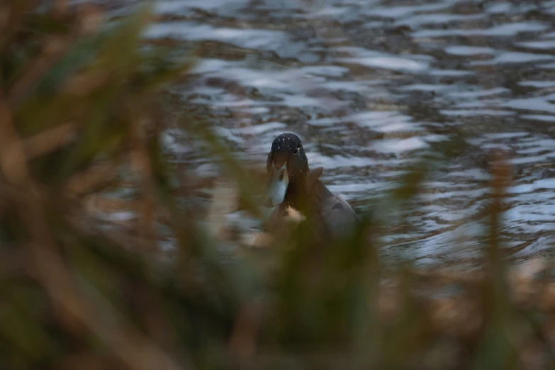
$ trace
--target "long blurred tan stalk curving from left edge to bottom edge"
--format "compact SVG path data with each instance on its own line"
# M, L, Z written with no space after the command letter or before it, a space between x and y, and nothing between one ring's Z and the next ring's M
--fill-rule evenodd
M13 201L30 232L26 247L33 259L33 275L59 308L60 323L73 331L86 327L130 369L179 369L154 343L123 323L102 296L90 299L92 292L85 295L73 283L51 235L40 191L29 175L24 145L11 117L9 106L0 95L0 169L13 189Z

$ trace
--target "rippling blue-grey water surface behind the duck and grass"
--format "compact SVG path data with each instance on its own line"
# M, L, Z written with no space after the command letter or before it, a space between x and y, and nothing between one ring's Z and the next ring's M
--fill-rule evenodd
M427 182L384 255L422 264L479 257L488 153L514 177L502 239L510 255L555 241L555 1L163 0L145 37L182 40L201 61L185 101L202 106L243 159L263 168L284 131L356 208L414 159L464 138ZM175 140L179 161L191 148ZM455 148L456 149L456 148ZM211 163L194 159L214 176ZM241 220L240 215L235 219Z

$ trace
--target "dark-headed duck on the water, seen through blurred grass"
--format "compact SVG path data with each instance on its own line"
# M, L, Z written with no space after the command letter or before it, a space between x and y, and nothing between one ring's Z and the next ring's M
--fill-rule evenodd
M323 167L310 170L303 143L293 133L282 133L271 143L267 157L267 195L264 206L274 208L269 232L280 232L291 219L308 220L320 238L343 237L360 223L359 216L340 195L320 181Z

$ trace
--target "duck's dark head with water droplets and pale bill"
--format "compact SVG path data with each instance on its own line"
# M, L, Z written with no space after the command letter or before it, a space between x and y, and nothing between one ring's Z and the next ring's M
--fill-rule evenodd
M309 170L301 139L292 133L283 133L275 138L271 143L266 169L269 186L264 206L278 206L294 189L303 189Z

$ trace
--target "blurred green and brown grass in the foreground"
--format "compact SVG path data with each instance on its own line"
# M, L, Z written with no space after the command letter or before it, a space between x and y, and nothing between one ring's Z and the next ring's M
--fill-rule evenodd
M253 215L257 179L167 93L191 61L142 45L149 19L147 8L108 26L90 4L0 6L0 369L554 366L549 266L503 264L502 157L484 269L471 275L381 270L369 216L340 245L301 223L265 254L226 262L225 240L179 206L194 174L164 160L162 130L177 122L201 140ZM426 168L391 206L418 194ZM137 221L103 228L87 196L122 177ZM176 237L171 255L155 221Z

